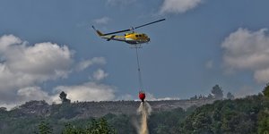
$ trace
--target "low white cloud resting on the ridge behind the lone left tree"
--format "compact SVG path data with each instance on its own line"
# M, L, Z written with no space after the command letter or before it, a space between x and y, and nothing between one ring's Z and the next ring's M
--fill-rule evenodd
M112 86L87 82L77 86L58 86L56 92L65 91L71 101L108 101L115 98ZM54 100L56 101L56 100Z

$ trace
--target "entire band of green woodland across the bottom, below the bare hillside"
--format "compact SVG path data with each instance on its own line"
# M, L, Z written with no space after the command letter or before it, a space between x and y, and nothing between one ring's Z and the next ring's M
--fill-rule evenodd
M218 88L214 87L215 90ZM268 93L269 85L266 85L263 94L256 96L232 99L229 95L231 99L218 100L212 105L153 112L148 121L149 131L153 134L269 134ZM40 105L48 106L46 102ZM16 109L0 108L0 133L137 133L135 126L139 116L136 114L109 113L100 119L76 118L76 112L72 110L74 105L68 101L52 106L52 111L57 113L43 116L23 115Z

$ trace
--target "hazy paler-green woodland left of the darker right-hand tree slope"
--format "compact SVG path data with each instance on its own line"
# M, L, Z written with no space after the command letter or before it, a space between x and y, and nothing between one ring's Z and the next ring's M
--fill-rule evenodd
M66 108L67 107L67 108ZM177 108L167 112L152 113L149 120L151 133L163 133L169 131L174 133L180 122L192 113L195 107L187 109ZM3 111L0 113L0 133L91 133L91 130L108 130L109 133L136 134L135 124L138 124L140 117L136 114L107 114L101 119L79 119L74 118L74 113L68 106L61 106L61 113L48 117L37 117L30 115L18 115L15 111ZM107 128L107 129L104 129ZM96 133L99 134L99 133Z

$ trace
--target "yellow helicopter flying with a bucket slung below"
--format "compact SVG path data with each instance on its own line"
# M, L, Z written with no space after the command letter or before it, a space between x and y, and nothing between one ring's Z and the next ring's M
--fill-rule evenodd
M95 29L94 26L92 26L92 29L96 30L96 32L100 36L100 38L105 38L105 39L107 39L107 41L110 41L110 40L123 41L123 42L126 42L127 44L130 44L131 46L141 47L141 44L148 43L149 41L151 41L151 38L149 38L144 33L134 32L134 29L139 29L139 28L142 28L144 26L151 25L153 23L160 22L160 21L165 21L165 19L161 19L158 21L152 21L152 22L143 24L141 26L132 27L131 29L123 29L123 30L118 30L115 32L106 33L106 34L100 32L100 30L98 30L98 29ZM132 31L132 32L128 33L127 31ZM121 33L121 32L126 32L126 33L124 36L115 35L115 34Z

